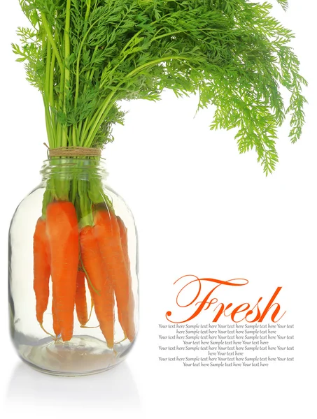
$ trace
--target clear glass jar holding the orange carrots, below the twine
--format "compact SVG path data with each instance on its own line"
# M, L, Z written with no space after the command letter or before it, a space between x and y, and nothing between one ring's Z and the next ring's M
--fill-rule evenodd
M102 372L125 358L138 328L134 219L102 159L50 159L41 173L10 225L13 344L41 372Z

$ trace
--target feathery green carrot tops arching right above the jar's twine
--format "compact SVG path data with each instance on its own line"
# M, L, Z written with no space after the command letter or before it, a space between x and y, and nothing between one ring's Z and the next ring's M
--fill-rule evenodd
M277 0L287 8L286 0ZM278 161L277 128L304 124L293 33L272 5L248 0L20 0L27 80L43 95L51 148L102 147L123 123L120 101L155 101L163 89L215 105L211 128L237 128L239 151L255 149L266 173ZM290 91L285 108L281 86Z

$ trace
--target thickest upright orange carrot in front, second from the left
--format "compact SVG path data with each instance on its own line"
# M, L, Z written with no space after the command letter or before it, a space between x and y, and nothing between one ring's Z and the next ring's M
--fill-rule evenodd
M79 261L78 220L75 207L68 201L50 203L46 217L51 252L53 323L59 325L63 341L69 341L73 336Z

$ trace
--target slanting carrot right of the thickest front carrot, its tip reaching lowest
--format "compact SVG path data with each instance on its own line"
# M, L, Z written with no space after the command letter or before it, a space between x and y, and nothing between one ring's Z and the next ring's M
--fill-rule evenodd
M114 295L111 282L104 270L101 254L99 251L94 227L86 226L80 230L80 255L83 267L87 272L95 292L90 286L94 311L99 321L101 332L103 333L108 348L113 348L113 327L114 327Z

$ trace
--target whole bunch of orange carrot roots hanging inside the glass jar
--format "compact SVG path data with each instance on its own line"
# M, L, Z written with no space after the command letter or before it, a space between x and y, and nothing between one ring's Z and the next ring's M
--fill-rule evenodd
M34 232L36 318L43 328L52 278L52 327L63 341L73 337L73 318L88 321L86 287L108 348L114 345L115 300L125 338L133 341L134 297L127 247L127 228L113 209L98 208L92 225L78 226L70 201L48 204Z

